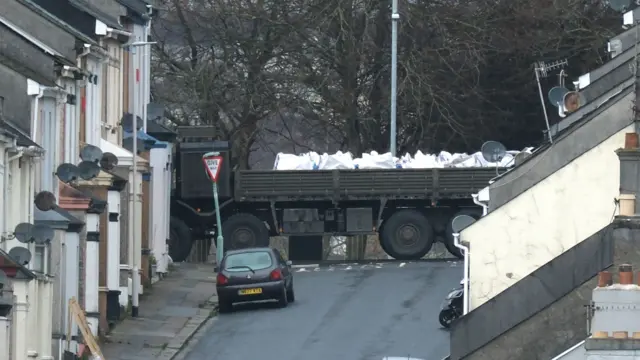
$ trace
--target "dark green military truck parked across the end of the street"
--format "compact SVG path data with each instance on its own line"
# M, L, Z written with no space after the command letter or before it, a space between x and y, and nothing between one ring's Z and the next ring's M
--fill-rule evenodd
M228 142L211 128L178 129L171 201L170 255L184 260L193 239L216 231L211 180L202 155L219 151L218 178L225 250L267 246L271 236L378 234L398 260L425 256L436 241L454 255L451 220L480 217L471 194L488 185L495 168L236 170Z

